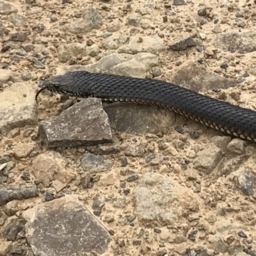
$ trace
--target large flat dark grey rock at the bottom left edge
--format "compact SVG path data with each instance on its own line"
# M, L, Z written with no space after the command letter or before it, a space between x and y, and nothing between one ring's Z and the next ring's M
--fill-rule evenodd
M35 256L70 256L108 250L111 236L99 221L72 197L53 200L22 215L26 237Z

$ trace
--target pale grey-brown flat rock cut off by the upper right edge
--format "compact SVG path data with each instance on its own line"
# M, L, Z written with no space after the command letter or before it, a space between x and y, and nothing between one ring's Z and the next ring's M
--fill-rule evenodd
M221 33L214 40L215 47L223 51L238 52L241 54L256 51L256 33L253 31L231 31Z

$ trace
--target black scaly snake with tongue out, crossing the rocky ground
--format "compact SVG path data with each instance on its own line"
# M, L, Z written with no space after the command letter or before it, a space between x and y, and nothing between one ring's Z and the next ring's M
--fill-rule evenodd
M41 80L45 89L71 97L135 102L167 108L196 122L247 141L256 142L256 111L214 99L177 84L138 77L81 71Z

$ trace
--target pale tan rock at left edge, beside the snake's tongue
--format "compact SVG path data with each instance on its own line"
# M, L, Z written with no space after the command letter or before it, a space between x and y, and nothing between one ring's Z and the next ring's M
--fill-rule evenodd
M0 93L0 102L0 134L6 136L15 127L36 124L37 108L33 85L28 83L12 84L10 88L6 88L4 92Z

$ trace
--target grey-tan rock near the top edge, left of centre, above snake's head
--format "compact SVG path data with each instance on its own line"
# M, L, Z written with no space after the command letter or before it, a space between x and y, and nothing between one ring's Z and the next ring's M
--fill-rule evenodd
M65 24L62 28L63 31L68 31L72 34L84 34L92 31L93 29L100 29L102 20L97 10L88 8L83 13L83 18L76 19L70 24Z

